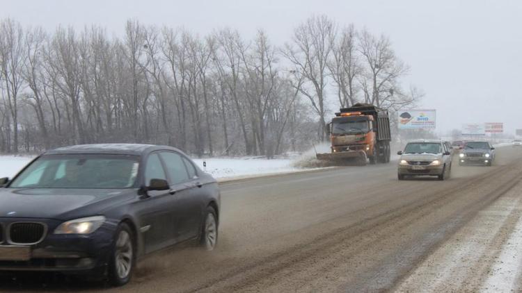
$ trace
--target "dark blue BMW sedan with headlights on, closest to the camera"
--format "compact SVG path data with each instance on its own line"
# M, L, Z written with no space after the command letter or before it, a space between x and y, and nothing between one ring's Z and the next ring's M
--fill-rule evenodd
M93 274L124 285L152 251L187 240L216 246L216 180L173 147L63 147L0 185L1 271Z

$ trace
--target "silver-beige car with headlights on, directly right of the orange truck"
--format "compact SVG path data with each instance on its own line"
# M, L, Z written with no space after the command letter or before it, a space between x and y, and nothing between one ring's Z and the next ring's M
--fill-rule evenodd
M418 140L409 142L401 156L397 169L397 178L404 176L429 175L439 180L449 178L452 168L452 154L448 145L441 140Z

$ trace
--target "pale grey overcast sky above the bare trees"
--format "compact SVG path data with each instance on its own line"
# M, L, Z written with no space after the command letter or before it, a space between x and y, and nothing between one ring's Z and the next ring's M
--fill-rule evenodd
M129 18L201 35L229 26L253 37L263 28L283 44L299 22L324 14L390 37L411 67L405 85L426 93L420 108L437 110L438 132L481 122L504 122L509 133L522 128L522 1L427 2L0 0L0 17L48 31L100 24L116 35Z

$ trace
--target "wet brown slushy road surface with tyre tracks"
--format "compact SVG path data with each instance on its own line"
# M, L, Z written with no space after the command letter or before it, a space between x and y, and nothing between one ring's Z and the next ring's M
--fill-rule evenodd
M402 290L434 251L521 182L522 148L497 149L493 167L454 164L448 181L397 181L396 164L223 184L218 249L157 253L125 287L28 274L3 280L0 291ZM408 290L422 291L415 284Z

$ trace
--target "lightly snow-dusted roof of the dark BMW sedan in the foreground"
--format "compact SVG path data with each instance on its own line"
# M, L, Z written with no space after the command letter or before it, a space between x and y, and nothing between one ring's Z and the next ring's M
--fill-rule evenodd
M169 150L180 151L173 147L158 146L154 144L78 144L69 147L60 147L46 151L46 155L58 155L68 153L109 153L141 156L151 151Z

